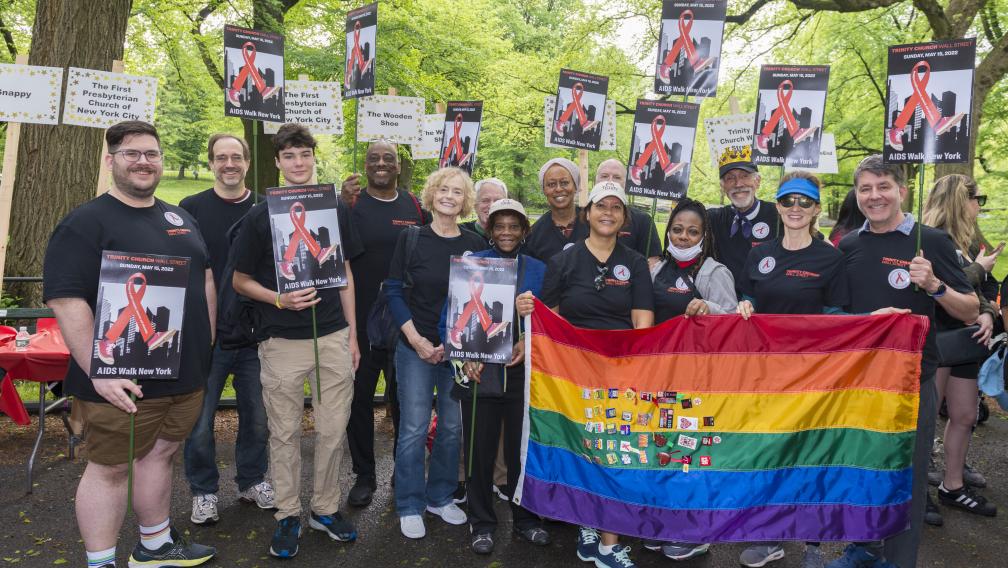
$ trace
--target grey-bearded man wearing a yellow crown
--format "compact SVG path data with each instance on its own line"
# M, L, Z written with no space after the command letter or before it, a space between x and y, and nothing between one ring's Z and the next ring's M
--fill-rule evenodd
M756 199L760 176L752 161L752 148L729 147L718 163L721 191L732 203L708 211L714 258L732 271L735 293L741 298L746 257L754 246L779 236L780 217L773 203Z

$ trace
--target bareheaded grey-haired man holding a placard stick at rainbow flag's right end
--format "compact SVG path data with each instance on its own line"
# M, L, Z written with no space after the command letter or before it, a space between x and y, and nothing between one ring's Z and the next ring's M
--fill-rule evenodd
M879 154L870 155L854 172L854 189L858 208L868 220L840 241L851 293L849 311L867 314L886 307L904 308L926 316L931 326L921 360L910 529L887 539L884 549L878 543L849 547L847 555L864 560L884 555L897 566L916 566L936 414L934 308L939 305L950 316L973 322L979 317L980 303L960 267L949 235L920 226L912 215L900 210L907 193L901 166L884 163ZM967 491L962 487L951 492Z

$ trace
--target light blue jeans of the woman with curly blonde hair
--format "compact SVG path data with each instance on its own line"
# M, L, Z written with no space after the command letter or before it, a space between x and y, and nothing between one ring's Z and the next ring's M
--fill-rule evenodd
M450 392L455 372L448 363L431 365L401 341L395 350L399 393L399 445L395 451L395 510L399 517L422 515L426 505L452 502L459 485L462 412ZM437 389L437 435L430 471L423 475L430 405Z

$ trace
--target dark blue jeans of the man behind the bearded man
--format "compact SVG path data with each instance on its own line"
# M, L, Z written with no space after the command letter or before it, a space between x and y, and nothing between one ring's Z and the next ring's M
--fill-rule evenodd
M185 478L194 495L216 493L221 474L217 469L217 445L214 441L214 415L221 401L228 374L234 374L232 384L238 402L238 439L235 442L235 482L244 491L266 476L269 450L266 442L266 409L262 404L262 383L259 382L259 354L255 348L223 350L214 347L207 377L207 393L203 412L185 440Z

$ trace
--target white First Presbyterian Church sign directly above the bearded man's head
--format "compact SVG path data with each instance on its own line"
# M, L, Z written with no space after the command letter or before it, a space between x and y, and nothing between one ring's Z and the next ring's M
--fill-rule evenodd
M64 124L108 128L124 120L154 122L157 79L70 68Z

